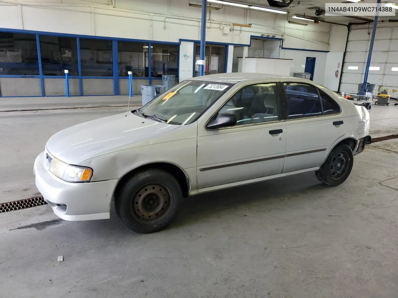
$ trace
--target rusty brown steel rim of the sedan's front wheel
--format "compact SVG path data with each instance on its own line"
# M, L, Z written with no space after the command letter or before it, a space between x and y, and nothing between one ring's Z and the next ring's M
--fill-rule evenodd
M153 224L164 219L172 209L170 188L161 183L142 186L131 199L130 212L137 221Z

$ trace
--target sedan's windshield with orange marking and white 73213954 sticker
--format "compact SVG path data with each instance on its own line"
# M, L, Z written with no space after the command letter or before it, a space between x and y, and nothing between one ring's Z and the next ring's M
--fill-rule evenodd
M135 113L168 124L190 124L232 85L211 81L183 81Z

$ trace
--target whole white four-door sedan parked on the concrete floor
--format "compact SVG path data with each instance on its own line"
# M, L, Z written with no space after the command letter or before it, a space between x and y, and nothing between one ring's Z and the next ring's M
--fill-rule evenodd
M36 186L68 221L165 228L184 197L314 171L344 182L371 143L369 112L306 79L216 74L178 83L139 109L53 135Z

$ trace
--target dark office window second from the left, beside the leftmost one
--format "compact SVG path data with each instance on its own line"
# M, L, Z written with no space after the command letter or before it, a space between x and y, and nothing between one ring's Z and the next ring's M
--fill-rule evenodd
M43 75L79 75L76 38L40 35L39 41Z

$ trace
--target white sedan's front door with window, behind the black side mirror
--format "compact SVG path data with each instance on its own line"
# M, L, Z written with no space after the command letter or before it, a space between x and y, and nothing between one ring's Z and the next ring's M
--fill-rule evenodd
M250 105L236 96L209 120L234 113L234 126L198 127L198 189L281 174L285 160L286 124L279 83L260 83ZM238 94L239 90L236 94ZM206 122L208 123L208 122Z

